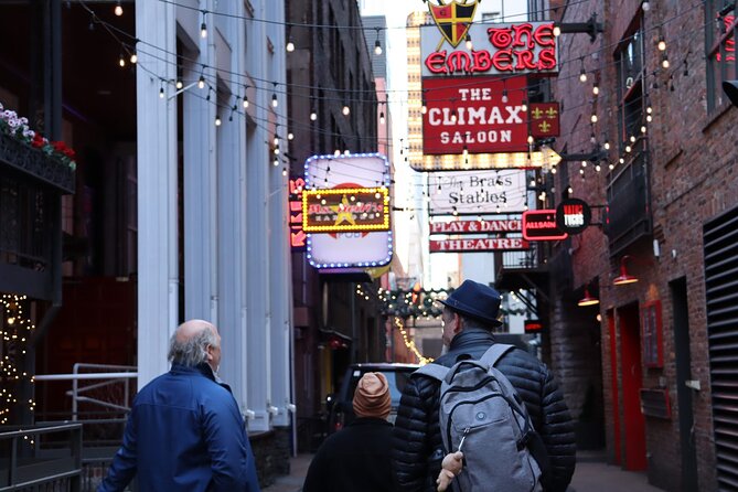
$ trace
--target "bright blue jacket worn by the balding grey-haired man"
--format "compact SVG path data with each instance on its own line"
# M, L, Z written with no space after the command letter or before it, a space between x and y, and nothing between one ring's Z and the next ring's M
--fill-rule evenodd
M258 492L244 419L206 364L172 364L136 396L122 446L98 492Z

